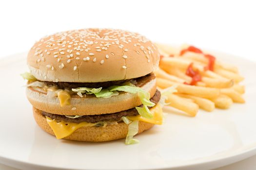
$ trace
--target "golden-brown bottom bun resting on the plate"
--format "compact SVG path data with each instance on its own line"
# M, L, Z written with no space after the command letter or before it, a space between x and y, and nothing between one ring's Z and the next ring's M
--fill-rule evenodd
M37 124L47 133L54 135L53 130L48 125L46 118L40 113L41 111L33 108L34 118ZM138 134L150 129L154 124L139 121ZM116 125L107 125L105 127L81 127L77 129L70 136L64 137L64 139L78 140L86 142L103 142L125 138L128 133L128 125L124 122L120 122Z

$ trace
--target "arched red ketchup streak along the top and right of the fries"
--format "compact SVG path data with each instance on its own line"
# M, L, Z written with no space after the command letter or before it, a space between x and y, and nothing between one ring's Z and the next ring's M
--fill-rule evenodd
M179 55L183 55L184 53L186 53L188 51L203 54L203 52L200 49L198 49L194 46L189 46L187 49L184 49L184 50L180 51ZM215 57L213 55L210 55L210 54L204 54L204 57L208 59L208 66L206 66L204 68L204 70L213 71L214 70L214 64L215 64Z

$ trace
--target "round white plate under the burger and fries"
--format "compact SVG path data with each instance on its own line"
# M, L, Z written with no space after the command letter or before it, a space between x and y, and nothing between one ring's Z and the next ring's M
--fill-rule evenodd
M124 139L86 143L57 140L42 131L26 100L25 53L0 61L0 163L24 170L203 170L213 169L256 154L256 63L224 53L214 54L239 66L245 76L245 104L228 110L199 111L196 118L170 112L166 123ZM175 112L171 113L171 112Z

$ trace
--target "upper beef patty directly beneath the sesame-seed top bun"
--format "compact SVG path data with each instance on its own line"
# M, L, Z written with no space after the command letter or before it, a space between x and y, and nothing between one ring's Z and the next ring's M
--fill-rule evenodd
M78 88L78 87L93 87L93 88L107 88L112 85L121 85L125 82L133 81L133 80L138 80L138 79L154 79L155 74L150 73L142 77L138 77L135 79L128 79L128 80L119 80L119 81L110 81L110 82L98 82L98 83L72 83L72 82L44 82L45 85L47 86L58 86L58 88Z

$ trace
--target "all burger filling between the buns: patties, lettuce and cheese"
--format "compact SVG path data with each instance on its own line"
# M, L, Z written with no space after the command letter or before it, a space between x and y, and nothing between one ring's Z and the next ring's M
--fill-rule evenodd
M80 127L104 127L110 124L118 124L118 122L123 121L124 123L129 124L125 143L133 144L138 142L138 140L133 139L133 136L138 133L139 121L162 124L162 110L161 105L159 105L158 102L160 101L160 103L162 103L161 101L164 98L160 99L161 94L157 90L155 95L150 99L150 94L140 88L156 78L154 73L136 79L100 83L46 82L37 80L30 73L24 73L22 74L22 77L28 80L28 88L47 93L49 97L58 97L60 106L69 105L69 99L71 97L96 96L97 98L110 98L123 92L138 93L142 103L140 106L117 113L65 116L41 111L41 114L46 117L47 123L50 125L58 139L71 135ZM174 89L169 91L173 92Z

